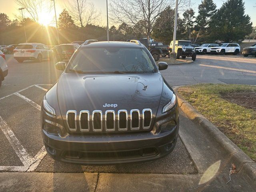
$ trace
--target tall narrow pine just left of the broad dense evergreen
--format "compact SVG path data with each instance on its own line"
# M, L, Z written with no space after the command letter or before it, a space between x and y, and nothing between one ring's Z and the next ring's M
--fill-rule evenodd
M202 0L198 6L198 16L196 17L195 30L197 35L195 42L198 40L205 41L208 39L209 26L212 22L213 16L216 14L216 4L213 0Z

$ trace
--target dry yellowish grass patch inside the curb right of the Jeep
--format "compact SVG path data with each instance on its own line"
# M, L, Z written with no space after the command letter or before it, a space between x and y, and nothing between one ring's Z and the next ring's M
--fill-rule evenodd
M256 86L199 84L178 92L256 162Z

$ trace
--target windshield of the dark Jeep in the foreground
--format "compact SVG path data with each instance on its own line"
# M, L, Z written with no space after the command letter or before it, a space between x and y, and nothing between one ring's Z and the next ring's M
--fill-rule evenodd
M152 73L156 67L142 48L82 48L70 61L70 71L84 73Z

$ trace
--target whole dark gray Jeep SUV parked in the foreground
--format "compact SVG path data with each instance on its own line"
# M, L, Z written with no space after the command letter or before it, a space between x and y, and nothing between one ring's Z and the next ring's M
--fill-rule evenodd
M44 96L42 137L54 159L80 164L156 160L177 142L174 90L138 41L86 41Z

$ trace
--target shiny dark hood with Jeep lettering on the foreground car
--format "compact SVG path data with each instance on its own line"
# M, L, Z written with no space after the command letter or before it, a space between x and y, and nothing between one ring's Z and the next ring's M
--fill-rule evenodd
M150 108L156 114L162 95L161 74L74 74L64 73L57 86L62 116L68 110L127 110L142 112ZM103 107L105 104L117 104ZM115 107L113 107L115 106Z

